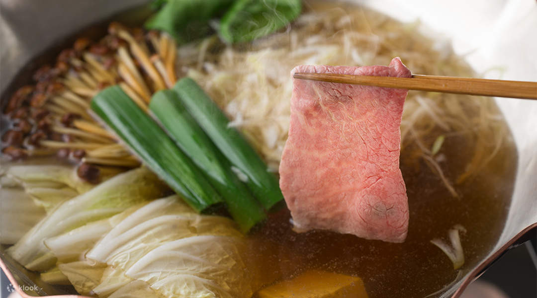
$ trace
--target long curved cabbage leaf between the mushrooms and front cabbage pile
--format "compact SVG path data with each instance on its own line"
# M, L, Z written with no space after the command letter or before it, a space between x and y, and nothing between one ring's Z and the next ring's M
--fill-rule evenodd
M55 265L56 258L43 241L158 198L163 189L165 185L146 168L119 174L57 206L9 248L8 253L27 269L48 270Z

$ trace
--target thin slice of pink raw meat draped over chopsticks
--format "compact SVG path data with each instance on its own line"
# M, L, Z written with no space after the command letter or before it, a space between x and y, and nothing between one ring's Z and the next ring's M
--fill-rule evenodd
M410 77L389 66L296 66L295 72ZM408 198L399 169L406 90L293 80L280 187L296 228L403 242Z

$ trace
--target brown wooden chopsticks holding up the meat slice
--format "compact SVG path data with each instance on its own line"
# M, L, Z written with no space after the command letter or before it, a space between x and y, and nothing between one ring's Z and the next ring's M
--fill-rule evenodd
M293 78L408 90L537 100L537 82L531 81L425 76L423 74L414 74L411 78L398 78L310 72L295 72Z

